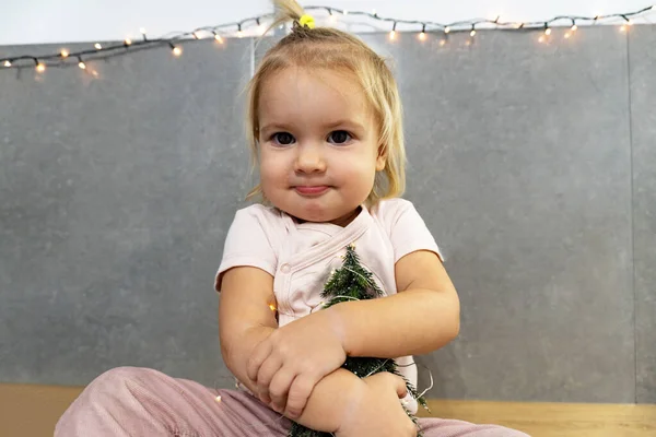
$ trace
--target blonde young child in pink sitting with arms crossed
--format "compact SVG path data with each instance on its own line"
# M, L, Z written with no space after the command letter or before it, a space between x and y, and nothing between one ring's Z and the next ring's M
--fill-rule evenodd
M153 369L96 378L56 436L286 436L291 420L338 437L414 436L401 378L364 378L347 356L395 358L414 386L412 355L459 329L459 302L435 240L405 187L401 104L385 61L358 38L315 27L277 1L292 33L250 83L249 133L261 203L237 211L215 280L220 338L237 390ZM279 24L279 23L277 23ZM386 297L321 309L320 292L353 245ZM216 395L219 394L219 397ZM525 436L422 418L426 437Z

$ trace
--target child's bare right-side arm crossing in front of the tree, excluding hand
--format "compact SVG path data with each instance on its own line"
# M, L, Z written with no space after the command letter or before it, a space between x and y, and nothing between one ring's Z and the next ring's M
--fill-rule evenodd
M437 256L414 251L398 260L395 270L398 294L328 309L341 316L349 356L420 355L458 335L458 295Z

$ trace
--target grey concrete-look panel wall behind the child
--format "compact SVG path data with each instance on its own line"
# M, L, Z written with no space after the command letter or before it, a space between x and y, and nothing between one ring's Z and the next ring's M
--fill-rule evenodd
M394 58L407 198L462 302L420 386L430 369L433 398L656 402L656 26L363 37ZM138 365L233 387L212 281L251 181L251 43L98 79L0 71L0 381Z

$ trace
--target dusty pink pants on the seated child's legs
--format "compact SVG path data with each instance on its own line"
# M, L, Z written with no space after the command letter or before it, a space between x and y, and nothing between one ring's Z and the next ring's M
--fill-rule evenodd
M527 436L441 418L420 418L420 425L425 437ZM216 391L149 368L118 367L84 389L57 423L55 437L285 437L289 428L289 420L245 392Z

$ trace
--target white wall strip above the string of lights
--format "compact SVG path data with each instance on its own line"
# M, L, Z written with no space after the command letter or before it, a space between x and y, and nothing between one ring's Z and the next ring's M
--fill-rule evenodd
M639 10L655 0L313 0L302 4L372 11L407 20L454 22L471 17L541 21L561 14ZM271 11L269 0L1 0L0 45L116 40L191 31ZM9 4L7 4L9 3ZM652 19L656 15L652 14ZM1 52L0 52L1 56Z

